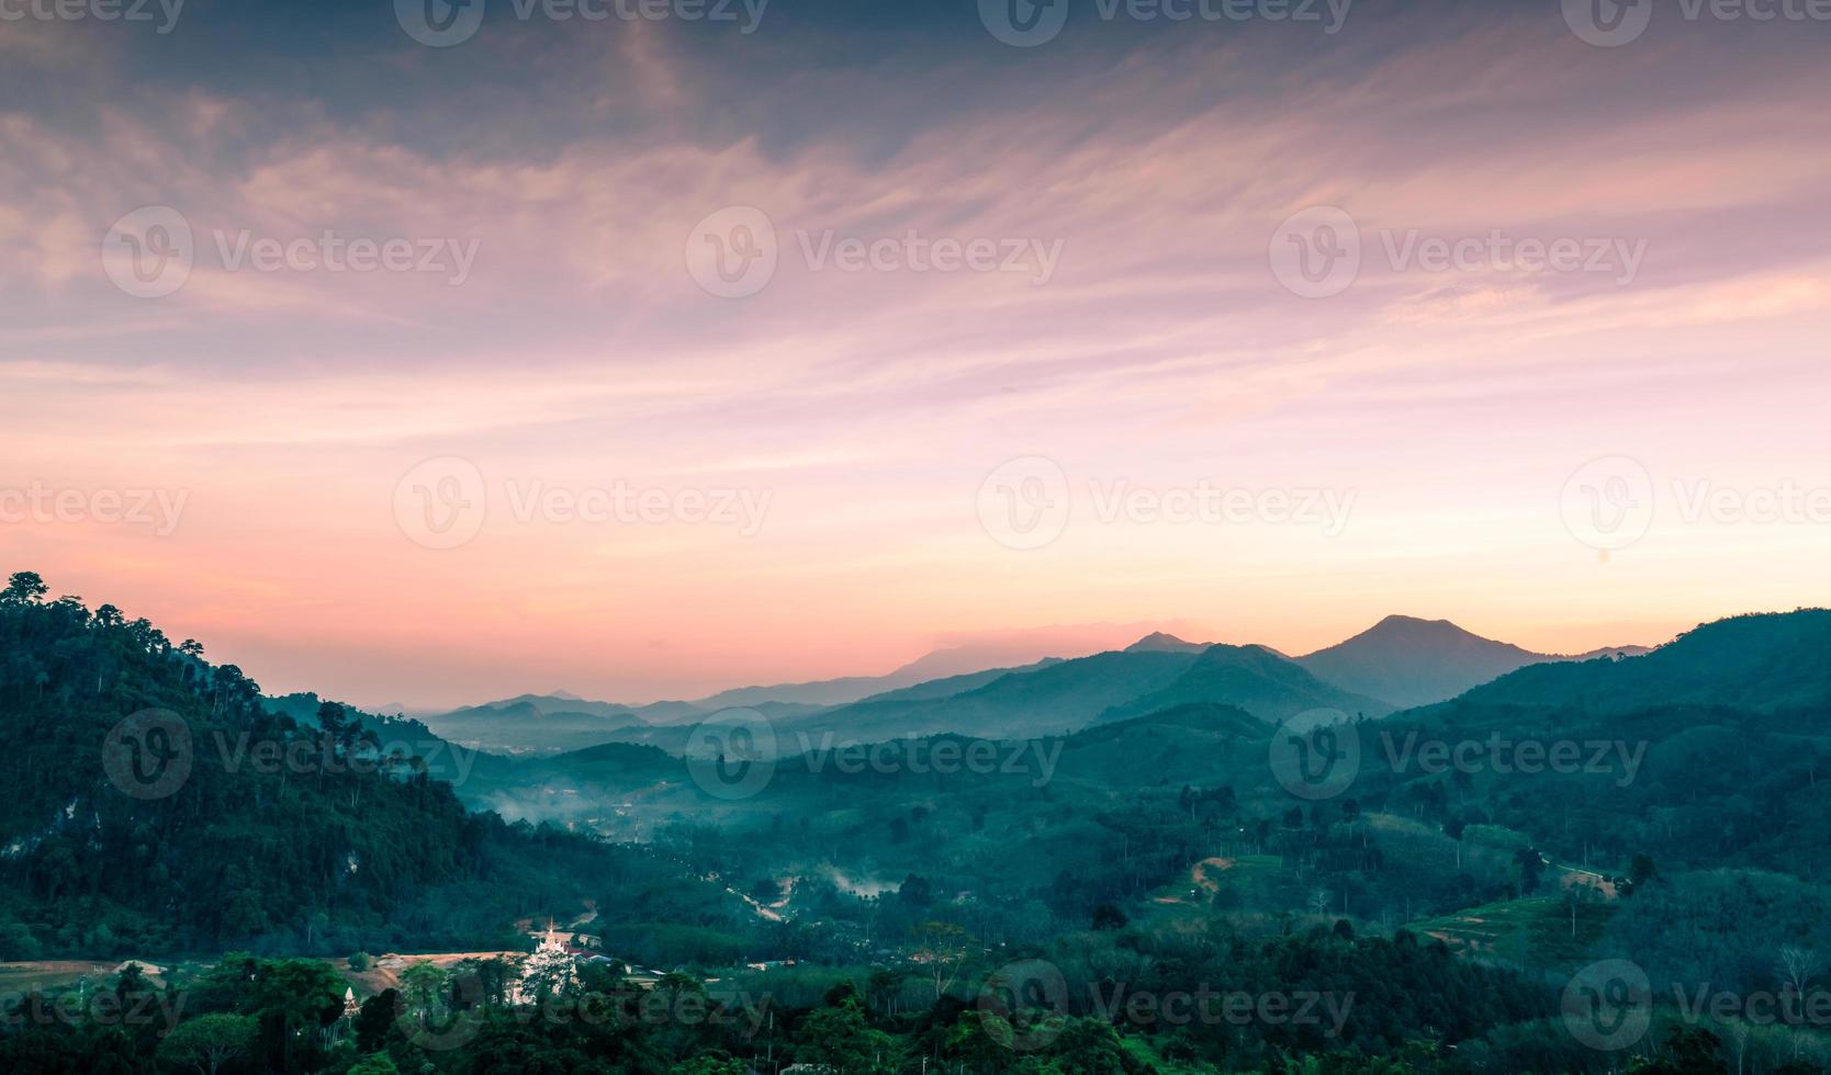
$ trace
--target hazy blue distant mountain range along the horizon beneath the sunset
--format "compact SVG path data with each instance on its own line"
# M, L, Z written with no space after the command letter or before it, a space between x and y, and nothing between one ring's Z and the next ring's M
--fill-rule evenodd
M738 687L648 706L591 702L553 691L425 720L439 735L500 753L557 753L597 742L679 751L692 726L731 708L756 709L800 740L937 731L1031 737L1190 704L1234 706L1269 722L1311 709L1381 717L1454 698L1536 664L1641 653L1646 649L1619 647L1575 658L1533 653L1481 638L1448 620L1386 616L1353 638L1296 658L1265 645L1188 642L1154 631L1124 649L1011 667L958 671L983 651L948 649L883 676Z

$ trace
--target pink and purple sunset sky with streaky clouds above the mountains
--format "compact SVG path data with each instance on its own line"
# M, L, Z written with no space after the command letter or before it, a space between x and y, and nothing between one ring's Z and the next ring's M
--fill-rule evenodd
M412 706L1824 605L1831 13L1595 4L0 0L0 570Z

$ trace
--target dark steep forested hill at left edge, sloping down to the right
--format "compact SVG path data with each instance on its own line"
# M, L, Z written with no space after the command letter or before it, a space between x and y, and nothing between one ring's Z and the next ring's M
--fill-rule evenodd
M654 868L467 814L412 740L317 726L119 609L0 594L0 960L485 947ZM428 742L436 750L436 740Z

